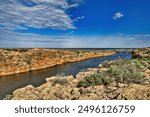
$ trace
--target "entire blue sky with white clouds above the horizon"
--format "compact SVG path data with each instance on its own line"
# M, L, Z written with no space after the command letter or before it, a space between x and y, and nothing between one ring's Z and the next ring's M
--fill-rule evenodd
M149 11L150 0L0 0L0 47L150 47Z

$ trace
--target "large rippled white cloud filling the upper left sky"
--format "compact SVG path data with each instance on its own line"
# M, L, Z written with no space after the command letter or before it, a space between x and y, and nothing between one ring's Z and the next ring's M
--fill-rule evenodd
M79 0L0 0L0 31L32 28L74 29L66 11Z

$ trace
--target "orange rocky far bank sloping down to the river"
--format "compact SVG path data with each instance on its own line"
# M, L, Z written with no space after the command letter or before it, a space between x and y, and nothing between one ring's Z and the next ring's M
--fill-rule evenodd
M114 53L111 50L0 49L0 75L43 69Z

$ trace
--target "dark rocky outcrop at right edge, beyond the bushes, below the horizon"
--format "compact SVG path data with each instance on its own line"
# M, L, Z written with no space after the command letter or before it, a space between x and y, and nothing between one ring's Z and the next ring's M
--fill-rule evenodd
M133 49L133 58L150 58L150 48Z

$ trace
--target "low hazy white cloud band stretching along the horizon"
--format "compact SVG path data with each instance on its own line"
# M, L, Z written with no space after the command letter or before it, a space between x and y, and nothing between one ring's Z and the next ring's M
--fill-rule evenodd
M136 48L148 47L150 35L116 36L41 36L37 34L1 34L1 48ZM5 37L5 39L1 38ZM10 38L11 37L11 38ZM15 40L15 41L14 41Z

